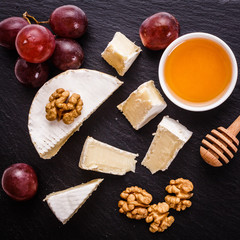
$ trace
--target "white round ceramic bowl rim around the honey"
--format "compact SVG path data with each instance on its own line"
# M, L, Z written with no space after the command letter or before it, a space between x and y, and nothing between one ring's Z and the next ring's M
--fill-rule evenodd
M165 67L166 59L167 59L168 55L171 53L171 51L177 45L182 43L183 41L188 40L188 39L194 39L194 38L204 38L204 39L208 39L208 40L216 42L218 45L220 45L226 51L226 53L228 54L228 56L231 60L231 64L232 64L232 79L231 79L227 89L224 91L222 96L217 98L215 101L212 101L212 102L209 102L209 103L203 104L203 105L186 103L186 102L181 101L178 98L176 98L169 90L169 87L167 86L165 77L164 77L164 67ZM201 111L207 111L207 110L216 108L217 106L222 104L231 95L231 93L236 85L236 82L237 82L238 66L237 66L237 61L236 61L236 58L235 58L232 50L223 40L221 40L220 38L218 38L212 34L209 34L209 33L194 32L194 33L189 33L189 34L186 34L186 35L183 35L183 36L177 38L165 49L165 51L163 52L163 55L160 59L159 68L158 68L158 76L159 76L159 81L160 81L162 90L174 104L176 104L177 106L179 106L183 109L189 110L189 111L201 112Z

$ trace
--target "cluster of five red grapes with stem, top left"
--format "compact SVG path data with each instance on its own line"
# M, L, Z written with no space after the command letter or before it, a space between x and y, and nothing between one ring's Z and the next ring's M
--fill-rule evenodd
M31 24L26 16L36 24ZM86 32L88 20L79 7L64 5L52 12L48 23L58 38L34 17L25 13L24 18L10 17L0 22L0 46L16 49L20 56L15 65L19 82L42 86L48 79L49 60L62 71L82 65L83 49L74 39Z

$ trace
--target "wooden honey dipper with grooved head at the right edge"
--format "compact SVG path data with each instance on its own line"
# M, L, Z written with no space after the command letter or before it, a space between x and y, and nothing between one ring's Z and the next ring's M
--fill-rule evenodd
M227 129L224 127L213 129L212 135L207 134L206 140L202 140L200 155L203 160L213 167L229 163L229 159L232 159L238 150L239 141L236 136L239 132L240 115Z

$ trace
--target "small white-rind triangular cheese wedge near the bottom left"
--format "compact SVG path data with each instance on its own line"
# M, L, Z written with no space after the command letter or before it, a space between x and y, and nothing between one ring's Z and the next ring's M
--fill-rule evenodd
M97 189L103 179L94 179L46 196L47 201L59 221L65 224Z

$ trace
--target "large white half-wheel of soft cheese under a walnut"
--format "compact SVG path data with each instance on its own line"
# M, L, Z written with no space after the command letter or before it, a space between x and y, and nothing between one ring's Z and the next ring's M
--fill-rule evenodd
M123 82L117 78L94 70L68 70L46 82L33 99L28 119L31 140L41 158L50 159L68 138L78 131L83 122L119 87ZM83 101L81 115L72 124L63 121L48 121L45 106L50 95L58 88L77 93Z

